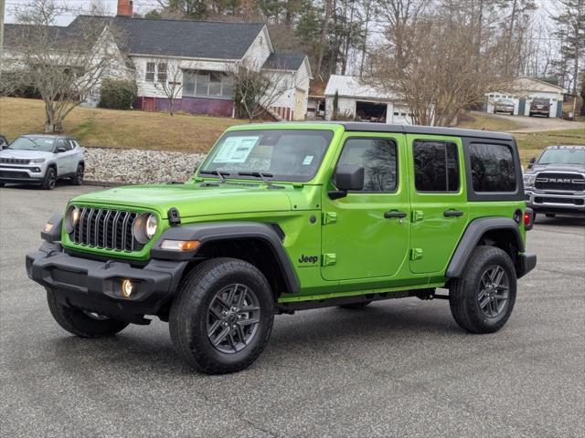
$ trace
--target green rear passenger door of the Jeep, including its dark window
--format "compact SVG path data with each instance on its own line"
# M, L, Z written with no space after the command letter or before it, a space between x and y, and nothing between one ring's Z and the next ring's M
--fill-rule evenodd
M410 271L445 269L468 222L463 142L457 137L409 134Z

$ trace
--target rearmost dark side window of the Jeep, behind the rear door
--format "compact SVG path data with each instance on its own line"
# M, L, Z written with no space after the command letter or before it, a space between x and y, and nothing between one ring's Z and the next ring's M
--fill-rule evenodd
M469 147L474 192L515 192L512 150L505 144L472 143Z

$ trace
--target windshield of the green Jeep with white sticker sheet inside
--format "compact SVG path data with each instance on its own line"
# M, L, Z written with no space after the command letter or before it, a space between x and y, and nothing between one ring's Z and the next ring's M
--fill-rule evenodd
M306 183L323 160L331 130L240 130L219 139L199 175Z

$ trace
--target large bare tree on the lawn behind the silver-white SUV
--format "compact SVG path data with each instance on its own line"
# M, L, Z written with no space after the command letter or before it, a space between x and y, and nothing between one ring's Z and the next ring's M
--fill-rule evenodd
M102 78L125 70L111 24L95 18L83 26L52 26L59 12L53 0L34 0L18 11L21 25L11 26L5 41L4 87L37 90L45 102L45 132L62 130Z

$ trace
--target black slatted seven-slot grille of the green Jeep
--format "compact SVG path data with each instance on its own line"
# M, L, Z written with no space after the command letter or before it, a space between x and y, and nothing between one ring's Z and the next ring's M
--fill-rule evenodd
M80 207L80 219L69 238L78 245L116 251L139 251L140 244L133 235L134 212Z

